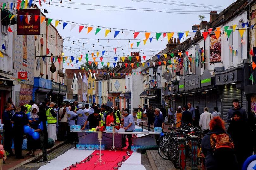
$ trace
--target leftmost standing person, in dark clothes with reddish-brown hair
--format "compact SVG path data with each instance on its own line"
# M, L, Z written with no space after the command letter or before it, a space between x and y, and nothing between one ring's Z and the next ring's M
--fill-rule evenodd
M4 133L3 133L4 134L4 140L3 140L4 150L9 153L9 155L7 155L7 157L15 156L12 152L12 139L13 139L12 122L11 122L12 104L5 103L3 108L4 108L4 111L3 111L3 115L2 115L2 123L3 123L3 129L4 129Z

